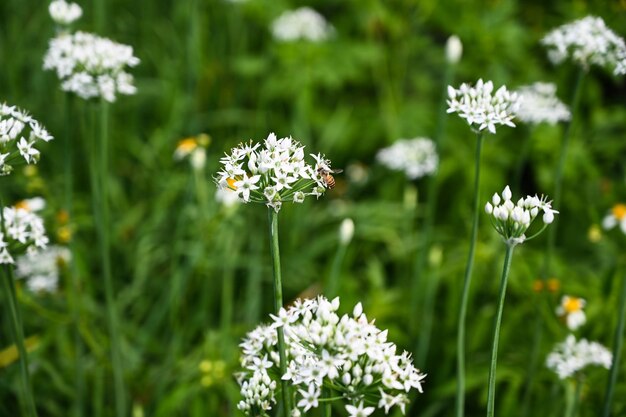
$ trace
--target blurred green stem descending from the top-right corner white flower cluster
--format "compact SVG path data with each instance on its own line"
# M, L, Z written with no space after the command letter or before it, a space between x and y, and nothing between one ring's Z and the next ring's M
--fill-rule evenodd
M559 162L556 167L556 171L554 173L554 194L552 200L552 207L556 207L557 209L561 205L561 192L563 188L563 170L565 169L565 161L567 159L567 150L569 148L569 141L572 135L572 126L574 125L574 116L576 114L576 109L578 108L578 103L580 101L580 91L582 90L583 79L585 77L585 70L580 68L578 70L578 75L576 77L576 82L574 84L574 89L572 93L572 100L570 104L570 112L572 114L572 118L565 126L565 130L563 131L563 139L561 141L561 149L559 152ZM552 256L554 254L554 245L556 242L556 231L557 231L558 222L550 227L548 230L548 240L547 240L547 248L545 252L544 258L544 267L542 279L547 279L548 274L551 273L552 269Z

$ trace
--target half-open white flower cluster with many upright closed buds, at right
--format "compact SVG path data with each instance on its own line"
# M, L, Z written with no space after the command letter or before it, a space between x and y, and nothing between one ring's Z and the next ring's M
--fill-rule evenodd
M511 189L507 185L502 191L502 198L498 193L495 193L491 202L487 202L485 205L485 211L491 215L493 227L508 245L523 243L526 239L532 239L541 233L543 229L529 238L524 234L539 211L543 212L544 228L554 221L554 214L558 213L552 209L550 202L545 197L539 198L536 195L529 195L526 198L520 198L517 204L513 203L511 198Z

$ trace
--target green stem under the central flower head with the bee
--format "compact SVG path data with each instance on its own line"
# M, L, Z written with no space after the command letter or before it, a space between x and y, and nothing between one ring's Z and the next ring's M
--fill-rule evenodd
M283 307L283 283L280 273L280 249L278 245L278 213L268 207L270 222L270 248L272 253L272 264L274 269L274 312L278 314ZM287 357L285 347L285 334L282 327L276 329L278 334L278 354L280 356L280 375L287 372ZM283 410L285 417L291 417L291 388L288 381L281 379Z

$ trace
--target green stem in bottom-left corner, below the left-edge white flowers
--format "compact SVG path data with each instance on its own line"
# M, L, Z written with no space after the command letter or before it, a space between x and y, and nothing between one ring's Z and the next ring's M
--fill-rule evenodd
M4 218L2 218L2 228L4 229ZM25 415L29 417L37 416L37 409L35 408L35 400L33 398L33 391L30 382L30 375L28 373L28 354L26 352L26 345L24 344L24 329L22 325L22 317L20 314L20 307L17 301L17 294L15 292L15 278L13 277L13 266L4 265L4 274L2 277L2 290L6 295L6 304L9 313L9 327L11 328L11 336L17 346L19 353L20 374L22 383L22 395L23 404L22 407L26 411Z

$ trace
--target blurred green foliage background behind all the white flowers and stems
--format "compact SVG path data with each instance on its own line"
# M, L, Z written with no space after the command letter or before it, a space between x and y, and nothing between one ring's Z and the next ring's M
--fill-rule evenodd
M343 167L337 187L319 201L285 205L280 239L285 295L292 300L323 292L338 246L338 226L350 217L356 234L340 273L339 294L348 311L365 306L390 339L407 350L417 341L408 323L409 280L423 213L423 182L408 183L375 164L381 147L401 137L434 134L442 99L444 45L458 35L464 53L455 85L491 79L516 88L555 82L568 102L576 69L554 67L539 39L550 29L588 14L626 35L624 1L513 0L218 0L80 2L78 29L132 45L141 64L132 72L138 94L111 106L114 278L122 317L125 380L134 416L238 415L238 340L271 311L271 269L264 207L234 210L214 200L212 175L224 151L269 132L292 135ZM63 206L66 138L75 163L76 273L79 297L68 279L60 291L36 296L20 288L34 392L41 416L113 415L112 377L103 285L97 267L89 197L92 103L63 94L42 57L54 25L48 2L0 3L0 100L27 109L56 140L42 149L38 174L2 181L5 201L42 195L54 212ZM283 10L308 5L336 29L323 44L279 44L269 25ZM617 289L626 271L618 232L591 241L588 231L626 199L626 93L623 78L601 69L587 76L576 115L558 217L556 293L535 293L545 236L528 242L513 261L504 312L497 413L558 416L564 387L543 367L566 331L553 314L561 293L584 297L588 324L582 336L612 346ZM438 277L432 342L424 363L425 392L413 416L451 415L455 387L456 316L471 218L474 135L448 116L440 149L440 192L428 279ZM178 140L207 133L212 142L205 172L194 176L172 158ZM553 190L562 127L498 129L483 154L481 200L500 192L516 170L525 141L530 158L514 194ZM363 178L351 174L361 168ZM25 179L24 179L25 178ZM620 238L622 240L620 240ZM481 217L469 307L467 415L486 403L488 360L504 246ZM233 298L228 285L233 285ZM224 291L226 288L227 291ZM226 294L226 295L224 295ZM422 300L423 302L424 300ZM78 304L74 304L78 303ZM74 344L71 306L79 305L80 345ZM230 308L232 305L232 317ZM420 307L421 311L421 307ZM11 345L2 312L0 350ZM545 331L539 363L526 392L537 317ZM76 373L76 363L84 374ZM223 372L199 368L223 361ZM221 365L220 365L221 366ZM209 381L207 376L211 376ZM614 415L626 414L626 367L621 365ZM587 373L581 416L598 415L607 372ZM15 363L0 367L0 415L18 415ZM203 382L204 379L204 384ZM340 409L336 410L341 415Z

